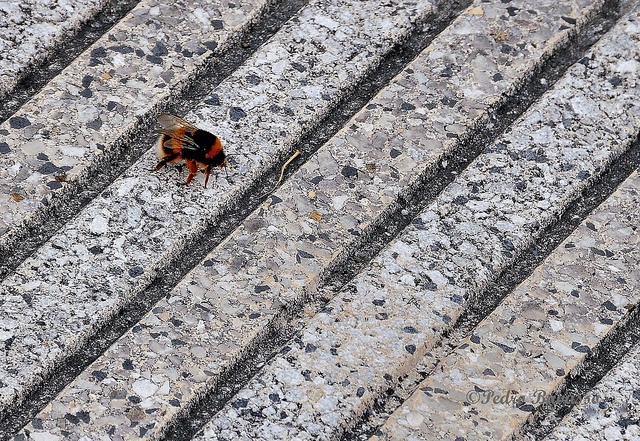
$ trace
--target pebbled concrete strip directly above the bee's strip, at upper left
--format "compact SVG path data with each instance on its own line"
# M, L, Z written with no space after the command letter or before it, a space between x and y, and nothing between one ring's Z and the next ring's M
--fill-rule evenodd
M140 2L0 125L0 241L37 219L139 118L188 84L265 6Z

